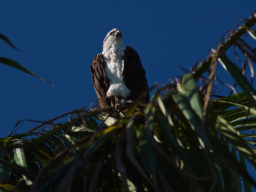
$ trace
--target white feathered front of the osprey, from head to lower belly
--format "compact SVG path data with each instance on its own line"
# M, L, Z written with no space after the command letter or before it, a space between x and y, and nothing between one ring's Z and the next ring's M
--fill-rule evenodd
M126 98L131 94L131 90L125 86L123 80L123 54L126 48L121 36L110 35L115 31L117 29L111 30L103 41L102 54L106 63L105 72L110 80L110 88L106 96Z

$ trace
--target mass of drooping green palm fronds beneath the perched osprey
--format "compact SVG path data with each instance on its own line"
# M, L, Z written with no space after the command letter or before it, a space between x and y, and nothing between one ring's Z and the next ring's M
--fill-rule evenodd
M230 30L148 104L139 103L144 93L131 105L85 106L1 138L1 190L252 191L256 96L245 74L253 82L255 23L253 14ZM217 67L242 92L214 95Z

